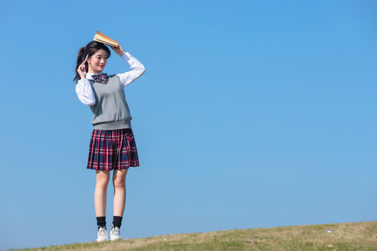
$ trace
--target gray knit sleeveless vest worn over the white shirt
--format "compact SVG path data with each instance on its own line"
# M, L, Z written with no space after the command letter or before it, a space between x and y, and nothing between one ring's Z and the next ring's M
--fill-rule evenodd
M96 104L90 107L93 112L91 124L94 129L116 130L131 128L131 114L124 95L124 87L117 75L110 75L104 83L91 83L96 96Z

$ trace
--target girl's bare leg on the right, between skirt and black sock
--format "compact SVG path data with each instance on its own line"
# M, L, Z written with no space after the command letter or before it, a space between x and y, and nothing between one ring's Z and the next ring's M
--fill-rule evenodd
M126 206L126 175L128 169L116 170L112 175L114 184L114 216L123 217L124 206Z

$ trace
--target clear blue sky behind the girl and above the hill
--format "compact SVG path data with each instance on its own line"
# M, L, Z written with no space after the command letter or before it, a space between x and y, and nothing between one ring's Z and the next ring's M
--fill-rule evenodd
M97 30L146 68L124 238L376 220L375 1L88 3L1 3L0 249L96 238L72 79Z

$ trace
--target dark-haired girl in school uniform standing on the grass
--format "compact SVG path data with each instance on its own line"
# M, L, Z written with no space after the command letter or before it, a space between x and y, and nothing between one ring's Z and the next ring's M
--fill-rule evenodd
M103 69L111 55L103 43L91 41L80 48L77 56L76 93L84 105L93 112L91 123L94 130L89 145L87 169L96 170L94 208L98 233L97 241L108 241L106 229L106 193L112 174L114 185L114 218L110 240L120 238L121 220L126 204L126 174L128 167L138 167L138 151L131 129L131 114L128 109L124 86L138 79L145 68L119 45L112 50L126 61L132 70L126 73L107 75Z

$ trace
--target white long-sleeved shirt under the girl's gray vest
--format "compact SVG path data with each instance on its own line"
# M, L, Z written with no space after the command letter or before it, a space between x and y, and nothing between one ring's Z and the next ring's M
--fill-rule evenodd
M138 79L138 77L145 73L145 68L142 63L129 54L129 52L123 54L121 58L124 59L124 61L126 61L132 69L126 73L117 74L123 86L126 86L134 82L136 79ZM93 79L91 75L94 74L95 73L87 73L87 77L80 79L76 84L77 97L84 105L91 106L96 104L96 97L94 96L93 89L91 89L91 84L89 82L89 79Z

